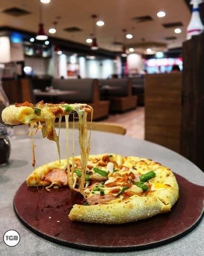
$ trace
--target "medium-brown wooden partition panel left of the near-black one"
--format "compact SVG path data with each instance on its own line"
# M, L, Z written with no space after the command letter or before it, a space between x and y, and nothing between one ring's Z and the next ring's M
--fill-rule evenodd
M145 140L180 153L182 74L145 75Z

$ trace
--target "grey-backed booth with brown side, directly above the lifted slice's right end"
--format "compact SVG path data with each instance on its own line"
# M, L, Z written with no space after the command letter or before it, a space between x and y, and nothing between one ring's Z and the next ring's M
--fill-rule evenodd
M58 97L58 101L67 103L87 103L94 109L93 120L108 117L110 101L99 99L98 81L96 79L53 79L54 89L77 91L77 94ZM88 115L90 119L90 116Z

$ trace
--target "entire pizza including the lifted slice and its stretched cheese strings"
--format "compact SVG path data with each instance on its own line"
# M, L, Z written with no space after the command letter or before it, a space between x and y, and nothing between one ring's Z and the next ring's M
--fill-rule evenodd
M72 113L77 113L79 118L81 155L74 156L72 133L72 157L69 157L69 115ZM16 103L3 110L5 123L31 125L34 170L27 184L37 188L43 186L48 191L52 187L69 186L81 193L84 201L81 205L73 205L69 213L73 221L121 224L169 211L179 198L179 186L171 170L145 158L89 155L91 130L88 136L88 113L91 113L92 119L93 109L87 104L49 104L43 101L35 105ZM59 117L60 128L62 116L66 121L67 157L61 160L60 129L57 135L55 119ZM40 129L43 137L56 141L59 160L35 168L33 135Z

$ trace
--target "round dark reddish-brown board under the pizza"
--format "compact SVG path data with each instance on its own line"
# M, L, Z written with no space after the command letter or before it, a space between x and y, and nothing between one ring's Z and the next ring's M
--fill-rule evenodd
M184 236L202 217L204 187L175 175L180 187L179 201L166 214L122 225L88 224L70 221L72 205L83 197L69 188L50 193L24 182L14 198L19 220L49 241L96 251L128 251L155 247ZM51 218L49 218L51 217ZM58 222L59 221L59 222Z

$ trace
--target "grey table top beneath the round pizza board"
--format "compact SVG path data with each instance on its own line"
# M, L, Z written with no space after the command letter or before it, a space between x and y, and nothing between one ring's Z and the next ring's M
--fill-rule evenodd
M65 131L63 129L61 131L60 143L62 157L65 158ZM39 133L36 136L35 144L37 145L37 165L58 159L55 142L42 139ZM91 252L64 247L38 237L19 222L13 210L13 198L16 190L32 172L30 138L27 136L12 138L11 147L10 164L0 167L1 255L203 255L204 221L201 221L195 229L179 240L153 249L135 252ZM75 153L79 154L79 146L76 146ZM189 181L198 185L204 185L204 174L193 163L167 148L147 141L93 131L90 153L116 153L124 156L134 155L150 158L169 166L175 173L184 176ZM4 233L9 229L15 229L20 234L20 243L15 247L8 247L2 239Z

